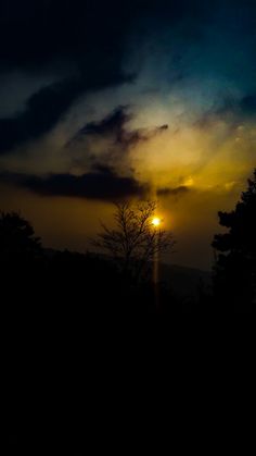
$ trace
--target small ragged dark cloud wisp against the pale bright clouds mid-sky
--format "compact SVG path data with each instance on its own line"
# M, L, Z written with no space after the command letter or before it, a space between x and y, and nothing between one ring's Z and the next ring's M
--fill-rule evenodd
M90 122L74 137L73 141L84 140L86 136L112 137L113 141L123 150L129 149L138 143L151 139L158 133L168 130L168 125L161 125L152 130L127 130L127 123L132 119L129 107L120 106L100 122Z

